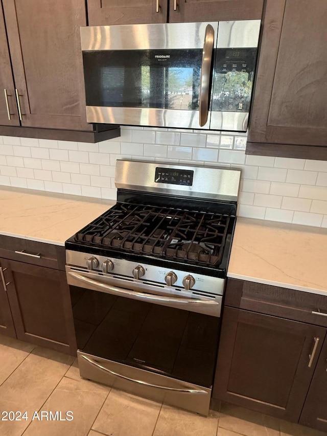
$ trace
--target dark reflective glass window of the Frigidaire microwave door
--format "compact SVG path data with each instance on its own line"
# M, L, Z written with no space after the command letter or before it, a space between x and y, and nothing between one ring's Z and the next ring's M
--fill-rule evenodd
M83 52L87 106L194 110L202 50Z

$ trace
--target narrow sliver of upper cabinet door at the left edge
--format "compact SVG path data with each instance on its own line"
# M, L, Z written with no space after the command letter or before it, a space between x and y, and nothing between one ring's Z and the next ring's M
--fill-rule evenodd
M15 86L11 72L10 55L2 8L0 8L0 125L19 126L15 100Z

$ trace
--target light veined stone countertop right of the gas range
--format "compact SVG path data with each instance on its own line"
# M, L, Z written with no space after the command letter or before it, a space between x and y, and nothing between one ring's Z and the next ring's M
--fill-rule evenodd
M227 277L327 295L327 229L239 217Z

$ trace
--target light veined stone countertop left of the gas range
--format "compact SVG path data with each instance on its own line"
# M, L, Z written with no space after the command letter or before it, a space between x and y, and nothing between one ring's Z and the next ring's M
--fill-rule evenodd
M115 200L0 187L0 234L64 245Z

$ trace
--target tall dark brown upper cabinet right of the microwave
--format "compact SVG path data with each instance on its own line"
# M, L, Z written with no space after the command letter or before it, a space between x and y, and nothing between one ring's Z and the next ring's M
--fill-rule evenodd
M327 160L327 2L267 0L246 153Z

